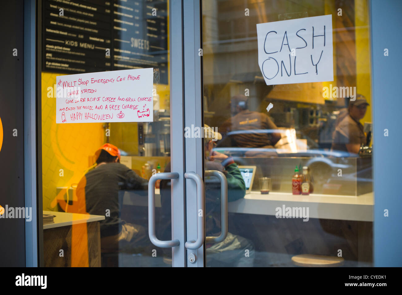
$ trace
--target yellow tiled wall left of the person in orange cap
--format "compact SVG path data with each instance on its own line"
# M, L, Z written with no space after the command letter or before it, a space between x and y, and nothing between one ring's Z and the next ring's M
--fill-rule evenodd
M48 97L58 73L42 73L43 210L57 210L56 187L78 183L88 168L88 156L104 142L102 123L56 124L56 99ZM60 176L63 169L64 176Z

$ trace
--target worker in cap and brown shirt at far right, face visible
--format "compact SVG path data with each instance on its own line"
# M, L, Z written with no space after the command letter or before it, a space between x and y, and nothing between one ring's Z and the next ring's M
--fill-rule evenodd
M360 120L367 111L366 99L362 95L357 95L356 100L349 102L348 114L335 128L332 134L332 150L345 151L359 154L360 146L365 144L363 125Z

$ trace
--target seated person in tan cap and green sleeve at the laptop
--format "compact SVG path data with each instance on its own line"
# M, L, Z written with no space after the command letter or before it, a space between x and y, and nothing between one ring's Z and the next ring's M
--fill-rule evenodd
M207 126L205 126L207 127ZM208 134L205 130L204 135ZM219 133L211 132L211 138L204 138L205 170L217 170L224 173L228 180L228 201L236 201L244 197L246 186L244 180L234 163L232 157L212 151L212 138L222 139ZM170 163L166 165L164 172L170 172ZM221 232L221 201L220 182L213 177L213 181L205 181L205 234L206 236L219 236ZM215 181L215 179L217 181ZM160 224L162 225L160 236L163 240L170 240L171 206L170 206L170 180L160 182L160 194L162 203L162 214ZM245 256L245 250L249 250L249 256ZM171 255L171 250L164 252L166 256ZM254 263L254 246L252 242L241 236L228 232L223 242L207 244L206 261L208 267L231 266L231 267L252 267Z

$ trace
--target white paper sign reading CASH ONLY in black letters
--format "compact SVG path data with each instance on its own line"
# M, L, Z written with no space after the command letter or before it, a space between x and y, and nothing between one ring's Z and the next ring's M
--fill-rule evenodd
M267 85L334 80L331 14L257 24L257 38Z

